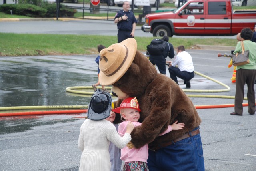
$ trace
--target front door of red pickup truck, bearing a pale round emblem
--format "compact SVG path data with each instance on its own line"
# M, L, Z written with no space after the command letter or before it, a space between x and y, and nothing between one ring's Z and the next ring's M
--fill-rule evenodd
M175 16L174 29L176 34L204 34L204 2L188 2Z

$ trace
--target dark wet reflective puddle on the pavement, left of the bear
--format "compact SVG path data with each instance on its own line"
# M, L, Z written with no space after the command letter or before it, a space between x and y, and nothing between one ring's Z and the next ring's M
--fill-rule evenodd
M96 55L0 57L0 107L88 105L91 95L68 93L65 89L98 82L95 58ZM0 134L73 122L85 115L0 117Z

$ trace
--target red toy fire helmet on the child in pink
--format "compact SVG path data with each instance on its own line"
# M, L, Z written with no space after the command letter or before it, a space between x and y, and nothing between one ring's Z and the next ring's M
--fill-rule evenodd
M120 109L122 108L132 108L138 110L139 112L141 111L136 97L129 97L127 99L124 99L124 101L122 101L122 103L120 104L120 107L112 109L112 111L120 113Z

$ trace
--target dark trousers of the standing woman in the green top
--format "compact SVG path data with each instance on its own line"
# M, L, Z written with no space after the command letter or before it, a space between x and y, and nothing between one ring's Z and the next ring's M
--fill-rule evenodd
M239 69L236 70L236 95L235 111L243 114L244 85L247 84L248 112L255 113L255 93L254 81L256 79L256 70Z

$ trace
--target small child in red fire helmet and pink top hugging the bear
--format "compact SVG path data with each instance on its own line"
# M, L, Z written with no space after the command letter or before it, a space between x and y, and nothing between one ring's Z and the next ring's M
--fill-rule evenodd
M129 97L124 99L120 104L120 107L112 109L116 113L120 113L121 119L125 121L120 123L118 126L118 133L121 136L124 136L126 132L126 126L131 121L134 124L134 127L140 126L141 123L138 122L140 119L140 107L136 97ZM168 129L161 133L164 135L172 130L183 129L185 126L184 123L174 122L172 125L169 125ZM121 149L121 159L124 160L124 171L140 170L148 171L147 159L148 159L148 145L144 145L139 149L129 149L127 146Z

